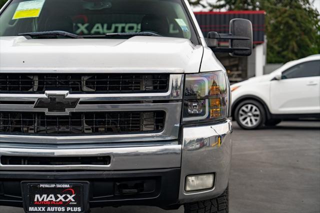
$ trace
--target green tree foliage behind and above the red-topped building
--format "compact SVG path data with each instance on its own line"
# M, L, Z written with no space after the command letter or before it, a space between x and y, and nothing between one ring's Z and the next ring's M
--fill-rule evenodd
M267 62L320 52L320 14L309 0L216 0L211 9L265 10Z

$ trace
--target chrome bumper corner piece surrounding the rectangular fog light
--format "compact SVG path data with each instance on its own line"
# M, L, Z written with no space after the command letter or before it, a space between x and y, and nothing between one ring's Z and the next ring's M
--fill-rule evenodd
M220 195L227 187L231 165L232 123L183 127L179 202L204 200ZM214 173L213 188L185 191L185 177Z

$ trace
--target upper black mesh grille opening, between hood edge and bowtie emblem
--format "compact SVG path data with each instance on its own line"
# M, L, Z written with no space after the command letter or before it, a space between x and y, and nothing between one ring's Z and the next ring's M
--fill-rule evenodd
M65 89L70 93L165 92L169 74L48 74L0 73L0 93L43 93Z

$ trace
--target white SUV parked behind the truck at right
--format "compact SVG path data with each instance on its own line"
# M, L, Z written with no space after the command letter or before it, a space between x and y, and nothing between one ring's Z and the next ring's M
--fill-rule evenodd
M240 127L320 117L320 54L285 63L270 74L231 85L232 117Z

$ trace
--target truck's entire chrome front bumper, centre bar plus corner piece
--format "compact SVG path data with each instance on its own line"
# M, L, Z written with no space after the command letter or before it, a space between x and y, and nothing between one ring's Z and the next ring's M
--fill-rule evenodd
M183 126L181 141L39 145L1 143L0 156L110 156L109 165L2 165L4 170L71 170L91 169L137 170L180 168L179 202L185 203L214 197L227 186L231 160L230 120L199 126ZM39 148L39 146L41 146ZM185 177L192 174L214 173L214 186L201 191L187 192ZM173 186L170 186L173 187Z

